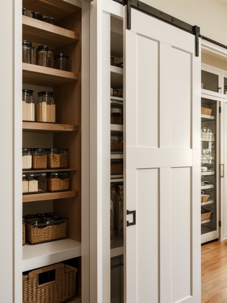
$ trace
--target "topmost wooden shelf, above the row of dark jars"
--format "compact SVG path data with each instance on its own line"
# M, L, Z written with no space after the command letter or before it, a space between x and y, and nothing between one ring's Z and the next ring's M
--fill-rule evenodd
M37 46L48 45L50 49L56 49L77 42L79 34L47 22L22 16L22 39L31 41L32 46L35 42Z

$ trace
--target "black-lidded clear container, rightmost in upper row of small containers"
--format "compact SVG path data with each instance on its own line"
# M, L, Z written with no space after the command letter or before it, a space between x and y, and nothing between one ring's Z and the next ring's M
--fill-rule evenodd
M48 168L67 168L68 148L48 148Z

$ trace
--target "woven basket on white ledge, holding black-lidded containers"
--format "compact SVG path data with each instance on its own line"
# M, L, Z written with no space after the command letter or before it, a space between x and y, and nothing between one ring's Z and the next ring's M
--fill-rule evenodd
M43 228L25 224L25 238L31 244L62 239L66 237L66 226L67 221Z

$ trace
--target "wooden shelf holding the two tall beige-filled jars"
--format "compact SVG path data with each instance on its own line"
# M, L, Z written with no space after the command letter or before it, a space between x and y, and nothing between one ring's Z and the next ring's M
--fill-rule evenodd
M55 124L42 122L23 122L23 132L38 132L38 133L60 133L60 132L78 132L78 125L70 124Z

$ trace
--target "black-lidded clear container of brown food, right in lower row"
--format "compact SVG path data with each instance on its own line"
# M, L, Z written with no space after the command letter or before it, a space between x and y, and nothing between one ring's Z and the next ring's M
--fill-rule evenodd
M69 190L69 175L70 171L48 172L47 189L49 191Z

